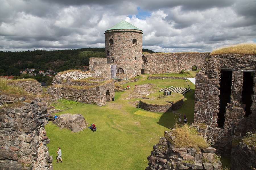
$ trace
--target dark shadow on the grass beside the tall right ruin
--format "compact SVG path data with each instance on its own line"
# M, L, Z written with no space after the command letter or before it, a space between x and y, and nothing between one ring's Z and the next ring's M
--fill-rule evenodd
M181 114L181 119L183 120L183 115L186 114L187 122L192 123L194 121L194 108L195 108L195 99L194 99L195 90L191 89L185 94L183 105L180 109L171 112L165 112L156 122L159 125L162 125L168 129L174 128L176 120L179 118L179 113Z

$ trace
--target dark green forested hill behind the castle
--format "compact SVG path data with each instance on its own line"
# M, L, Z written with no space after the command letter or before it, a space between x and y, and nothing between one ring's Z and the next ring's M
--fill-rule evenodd
M153 53L143 49L143 52ZM20 75L20 70L39 68L40 70L64 71L81 69L89 65L90 57L105 57L105 48L79 48L73 50L33 50L24 52L0 52L0 76Z

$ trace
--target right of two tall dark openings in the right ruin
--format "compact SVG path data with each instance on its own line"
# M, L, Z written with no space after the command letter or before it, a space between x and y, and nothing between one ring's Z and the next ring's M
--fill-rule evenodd
M242 91L242 103L245 104L245 115L247 117L251 114L251 95L253 94L253 76L254 72L243 71L243 91Z

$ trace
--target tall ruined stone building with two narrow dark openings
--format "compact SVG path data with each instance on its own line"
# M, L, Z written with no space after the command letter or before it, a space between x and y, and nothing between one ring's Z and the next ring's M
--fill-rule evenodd
M207 124L220 154L236 137L256 129L256 56L213 55L196 74L194 122Z

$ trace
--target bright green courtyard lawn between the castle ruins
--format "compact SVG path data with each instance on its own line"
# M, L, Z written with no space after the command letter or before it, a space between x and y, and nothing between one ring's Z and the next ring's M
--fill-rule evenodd
M174 127L178 113L186 114L188 123L193 122L195 85L187 92L181 109L166 113L154 113L137 109L132 102L139 100L124 99L132 93L135 84L154 83L154 89L179 86L187 87L185 80L147 80L141 77L137 82L129 82L131 90L115 92L115 101L99 107L65 100L55 104L57 109L67 109L63 113L79 113L85 120L97 127L73 133L69 129L59 129L51 122L45 126L51 142L47 144L53 155L53 169L145 169L153 145L164 136L164 131ZM122 84L127 87L127 84ZM63 163L56 164L56 150L61 147Z

